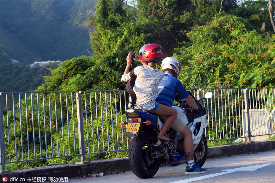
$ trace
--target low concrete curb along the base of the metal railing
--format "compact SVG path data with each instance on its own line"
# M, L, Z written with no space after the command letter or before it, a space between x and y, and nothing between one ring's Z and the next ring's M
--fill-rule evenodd
M247 142L237 145L222 145L208 148L207 158L219 156L232 156L245 154L249 152L258 152L275 149L275 140L261 142ZM52 164L43 167L29 168L24 170L4 171L0 174L0 180L3 177L8 178L32 178L32 177L68 177L74 178L79 175L91 172L108 172L108 171L128 171L130 166L128 157L108 160L87 161L83 164ZM19 182L19 181L16 181ZM27 181L26 181L27 182Z

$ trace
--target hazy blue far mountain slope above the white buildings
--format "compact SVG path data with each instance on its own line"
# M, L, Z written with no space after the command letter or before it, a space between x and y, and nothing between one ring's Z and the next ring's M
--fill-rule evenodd
M82 26L97 1L1 1L1 27L38 54L42 60L89 55L88 27ZM14 41L1 46L13 53ZM26 61L26 63L30 63Z

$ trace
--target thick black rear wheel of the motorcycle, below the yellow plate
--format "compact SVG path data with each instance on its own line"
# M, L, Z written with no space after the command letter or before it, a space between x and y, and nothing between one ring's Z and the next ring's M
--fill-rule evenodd
M156 136L142 132L135 137L129 149L129 163L133 173L139 178L151 178L160 168L161 158L152 158L152 139Z

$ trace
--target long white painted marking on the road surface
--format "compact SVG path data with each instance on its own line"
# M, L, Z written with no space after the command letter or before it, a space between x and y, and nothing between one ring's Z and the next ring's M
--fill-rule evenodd
M204 175L204 176L200 176L200 177L195 177L195 178L189 178L189 179L185 179L185 180L180 180L180 181L174 181L174 182L170 182L170 183L188 183L188 182L193 182L193 181L199 181L199 180L203 180L206 178L211 178L211 177L216 177L219 175L223 175L223 174L229 174L235 171L254 171L257 170L258 168L262 168L262 167L266 167L268 165L271 165L273 163L267 163L267 164L262 164L262 165L254 165L254 166L249 166L249 167L240 167L240 168L234 168L234 169L228 169L228 170L222 170L222 171L226 171L226 172L221 172L221 173L216 173L216 174L209 174L209 175Z

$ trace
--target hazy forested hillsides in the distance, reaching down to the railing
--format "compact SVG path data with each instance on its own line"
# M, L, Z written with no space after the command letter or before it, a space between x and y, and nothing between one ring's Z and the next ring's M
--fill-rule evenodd
M92 52L89 28L92 27L85 22L94 14L96 3L95 0L1 0L0 91L30 91L43 84L43 76L51 75L47 67L56 66L30 69L27 65L35 61L89 56ZM12 64L11 59L19 63ZM26 73L39 78L26 80Z

